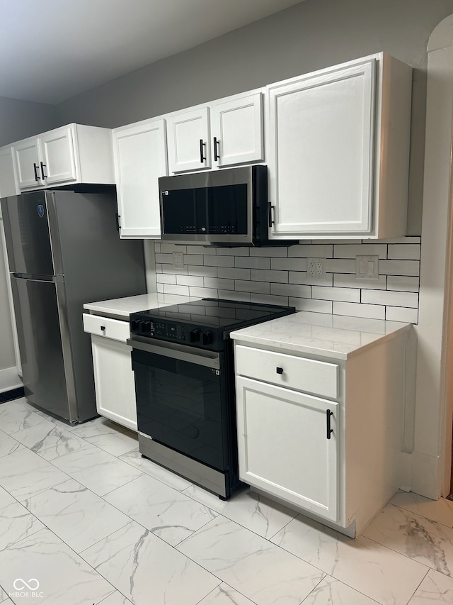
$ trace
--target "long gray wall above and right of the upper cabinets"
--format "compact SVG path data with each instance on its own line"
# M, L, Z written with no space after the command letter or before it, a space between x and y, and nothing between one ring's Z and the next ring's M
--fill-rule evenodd
M114 128L385 50L412 65L408 235L420 235L426 45L453 0L306 0L60 104L61 123Z

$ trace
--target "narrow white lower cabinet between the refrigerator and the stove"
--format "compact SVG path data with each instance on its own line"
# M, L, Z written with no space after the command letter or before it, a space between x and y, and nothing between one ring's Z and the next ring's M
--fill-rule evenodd
M84 330L91 333L98 413L137 431L129 321L84 313Z

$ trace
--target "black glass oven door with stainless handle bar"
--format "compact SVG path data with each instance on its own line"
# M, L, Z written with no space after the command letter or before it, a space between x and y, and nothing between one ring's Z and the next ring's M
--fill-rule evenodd
M139 433L226 472L230 423L225 354L163 341L127 342L132 346Z

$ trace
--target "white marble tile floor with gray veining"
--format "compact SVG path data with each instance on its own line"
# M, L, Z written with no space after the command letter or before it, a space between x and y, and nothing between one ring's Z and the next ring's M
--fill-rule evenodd
M0 405L0 604L453 604L453 502L399 492L356 540L228 502L96 418Z

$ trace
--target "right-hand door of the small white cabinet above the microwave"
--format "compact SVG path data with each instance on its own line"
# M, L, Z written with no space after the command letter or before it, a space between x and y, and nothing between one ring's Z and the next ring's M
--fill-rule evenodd
M211 104L212 153L217 166L264 160L260 92Z

